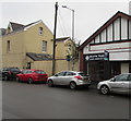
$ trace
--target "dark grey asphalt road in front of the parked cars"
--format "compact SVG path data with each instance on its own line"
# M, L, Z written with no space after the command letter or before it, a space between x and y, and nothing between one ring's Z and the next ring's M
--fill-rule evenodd
M129 119L129 97L100 95L95 86L71 90L2 82L3 119Z

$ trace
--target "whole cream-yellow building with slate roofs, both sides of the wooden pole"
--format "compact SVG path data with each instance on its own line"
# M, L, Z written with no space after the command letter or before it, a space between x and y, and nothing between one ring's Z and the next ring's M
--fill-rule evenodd
M51 75L53 35L43 21L28 25L10 22L8 28L0 32L2 66L40 69ZM56 72L68 70L66 58L69 46L73 44L71 41L69 37L57 39Z

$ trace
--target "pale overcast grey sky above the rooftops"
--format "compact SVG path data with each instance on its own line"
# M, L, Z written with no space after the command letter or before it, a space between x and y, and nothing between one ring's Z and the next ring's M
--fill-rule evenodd
M81 44L118 11L129 14L130 0L58 0L57 38L72 37L74 10L74 39ZM53 33L55 0L0 0L0 28L9 22L27 25L41 20Z

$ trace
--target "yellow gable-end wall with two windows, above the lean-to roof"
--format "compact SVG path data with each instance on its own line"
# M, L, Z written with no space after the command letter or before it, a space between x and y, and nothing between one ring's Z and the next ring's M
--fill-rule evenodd
M43 34L39 35L39 27L43 27ZM47 41L46 53L52 55L52 33L41 22L25 31L26 52L45 53L41 51L41 41Z

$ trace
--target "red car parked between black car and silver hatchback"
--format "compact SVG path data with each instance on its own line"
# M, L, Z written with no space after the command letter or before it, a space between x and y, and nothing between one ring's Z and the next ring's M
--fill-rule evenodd
M47 82L48 75L41 70L23 70L16 75L16 81L25 81L29 84L34 82Z

